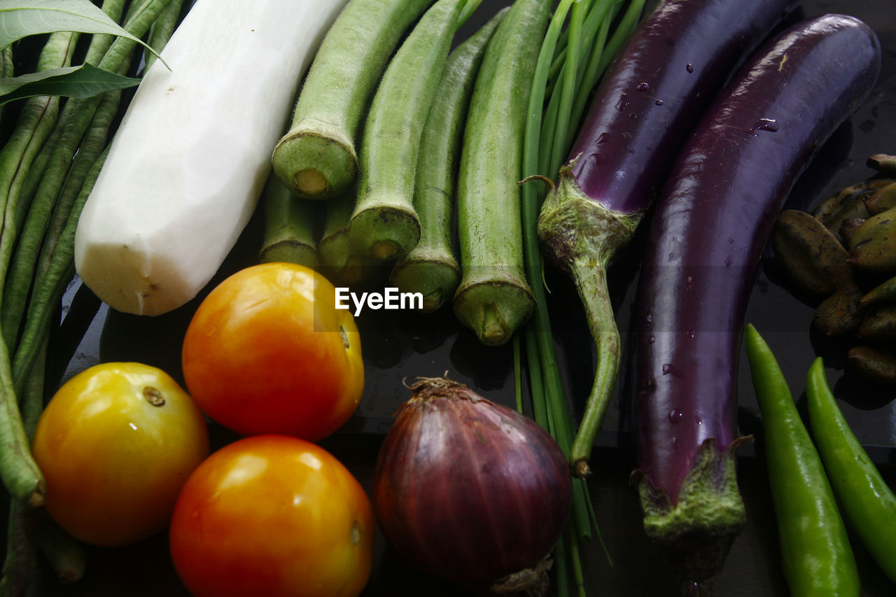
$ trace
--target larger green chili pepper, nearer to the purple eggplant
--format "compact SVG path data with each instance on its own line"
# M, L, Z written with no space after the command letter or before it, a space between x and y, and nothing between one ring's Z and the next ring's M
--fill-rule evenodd
M856 558L821 458L769 345L746 326L756 399L762 411L781 567L793 597L860 593Z

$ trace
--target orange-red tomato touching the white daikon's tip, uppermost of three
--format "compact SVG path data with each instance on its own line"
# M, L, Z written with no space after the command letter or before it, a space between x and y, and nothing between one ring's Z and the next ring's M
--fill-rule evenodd
M187 389L211 419L243 436L316 441L358 406L358 327L321 274L297 264L247 267L202 301L183 347Z

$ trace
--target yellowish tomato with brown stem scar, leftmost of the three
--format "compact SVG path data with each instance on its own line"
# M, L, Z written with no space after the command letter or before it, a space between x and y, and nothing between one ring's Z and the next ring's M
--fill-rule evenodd
M209 436L202 411L167 373L105 363L59 388L31 449L47 480L47 513L81 541L117 546L165 528Z

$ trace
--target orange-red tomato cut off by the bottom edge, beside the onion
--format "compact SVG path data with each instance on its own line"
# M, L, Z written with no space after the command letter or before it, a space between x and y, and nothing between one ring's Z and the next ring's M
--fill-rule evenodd
M186 481L171 520L177 574L195 597L355 597L373 563L364 489L297 437L246 437Z

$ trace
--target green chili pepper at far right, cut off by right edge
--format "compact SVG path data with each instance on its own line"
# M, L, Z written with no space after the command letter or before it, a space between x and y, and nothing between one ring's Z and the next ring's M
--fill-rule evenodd
M896 495L837 406L821 357L809 368L806 395L815 446L840 505L874 561L896 583Z

